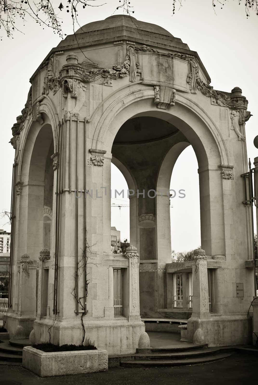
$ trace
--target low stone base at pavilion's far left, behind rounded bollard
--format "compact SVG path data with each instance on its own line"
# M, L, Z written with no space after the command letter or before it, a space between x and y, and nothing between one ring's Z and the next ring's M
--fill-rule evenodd
M28 315L18 315L15 311L8 310L6 317L6 325L10 339L14 338L15 331L18 326L22 326L25 331L25 338L29 338L30 332L33 330L35 317Z

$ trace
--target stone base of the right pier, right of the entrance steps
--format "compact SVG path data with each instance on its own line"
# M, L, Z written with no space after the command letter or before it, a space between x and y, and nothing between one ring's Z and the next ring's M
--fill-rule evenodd
M247 314L212 314L211 318L202 320L192 316L187 322L188 342L193 341L197 329L203 331L209 346L250 345L251 343L251 321L247 319Z

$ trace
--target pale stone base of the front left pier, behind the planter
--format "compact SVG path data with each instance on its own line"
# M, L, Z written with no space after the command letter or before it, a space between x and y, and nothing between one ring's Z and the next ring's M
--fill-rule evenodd
M35 320L36 343L49 342L49 328L53 324L52 318L40 318ZM86 320L85 338L95 341L98 349L108 351L108 354L135 353L138 347L140 335L145 331L142 321L128 322L127 318L115 318L113 320ZM81 317L57 320L50 330L51 343L56 345L75 344L80 345L83 338Z

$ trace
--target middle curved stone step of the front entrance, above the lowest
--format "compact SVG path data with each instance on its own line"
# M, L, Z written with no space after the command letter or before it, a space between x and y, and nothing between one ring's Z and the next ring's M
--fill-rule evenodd
M191 357L202 357L202 356L208 356L208 355L214 355L221 353L221 348L207 348L207 349L194 349L190 351L182 351L182 352L155 352L155 353L149 353L149 354L135 354L134 359L135 360L163 360L163 359L174 359L174 360L180 360L183 358L191 358Z

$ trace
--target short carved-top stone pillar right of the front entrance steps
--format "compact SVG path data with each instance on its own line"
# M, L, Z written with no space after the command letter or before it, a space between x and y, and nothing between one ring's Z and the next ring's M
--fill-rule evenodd
M205 251L196 249L192 262L192 315L199 319L210 318L207 257Z

